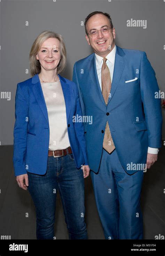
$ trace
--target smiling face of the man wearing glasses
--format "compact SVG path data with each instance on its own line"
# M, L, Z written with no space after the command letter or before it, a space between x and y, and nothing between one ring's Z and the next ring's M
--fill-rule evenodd
M100 30L104 27L110 27L109 19L103 14L95 14L87 21L86 28L87 32L91 32L93 29ZM101 57L106 57L115 46L115 29L110 29L107 34L103 34L98 31L95 37L86 35L86 40L89 45L93 48L93 51Z

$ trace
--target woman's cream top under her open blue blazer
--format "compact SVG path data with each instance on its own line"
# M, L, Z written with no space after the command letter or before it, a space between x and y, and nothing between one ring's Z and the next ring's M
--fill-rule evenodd
M70 146L66 122L65 100L61 82L41 83L49 119L49 150L66 149Z

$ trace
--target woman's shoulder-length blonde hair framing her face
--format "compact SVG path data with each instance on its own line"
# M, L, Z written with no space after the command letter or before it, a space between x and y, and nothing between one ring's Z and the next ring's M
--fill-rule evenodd
M57 66L57 75L62 73L66 66L66 48L64 44L64 40L62 36L58 33L55 33L50 30L45 30L39 34L39 36L34 41L31 51L29 54L30 60L30 74L32 76L36 75L37 73L41 72L41 65L39 60L36 59L36 55L39 52L41 45L47 40L48 38L57 38L60 41L60 52L61 52L61 60Z

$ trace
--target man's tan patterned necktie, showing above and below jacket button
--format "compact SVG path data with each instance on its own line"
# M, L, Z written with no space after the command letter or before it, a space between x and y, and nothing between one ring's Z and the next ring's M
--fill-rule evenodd
M103 58L103 65L101 68L101 83L102 83L102 95L105 100L105 104L108 104L108 99L111 91L111 75L109 68L106 64L107 59ZM111 153L115 149L115 145L112 140L111 132L109 129L108 121L105 127L105 134L103 140L103 148Z

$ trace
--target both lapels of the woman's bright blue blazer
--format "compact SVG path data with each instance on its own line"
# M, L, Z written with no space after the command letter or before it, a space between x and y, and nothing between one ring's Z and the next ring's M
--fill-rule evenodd
M69 115L70 115L70 89L69 89L69 85L66 83L64 78L60 75L58 75L58 77L60 79L62 90L63 90L65 106L66 106L66 118L67 118L67 122L68 122ZM45 119L49 125L47 107L46 107L44 94L42 92L42 87L41 87L41 83L40 83L38 74L36 74L32 77L32 91L33 91L34 96L36 97L36 100L38 102L38 105L40 106L41 111L44 114Z

